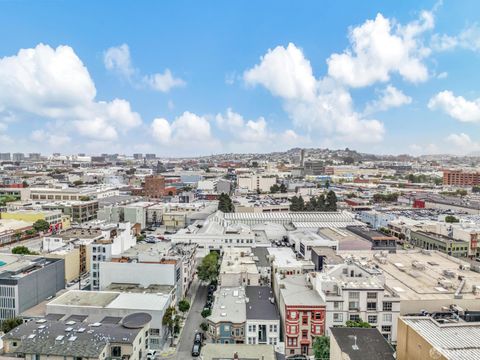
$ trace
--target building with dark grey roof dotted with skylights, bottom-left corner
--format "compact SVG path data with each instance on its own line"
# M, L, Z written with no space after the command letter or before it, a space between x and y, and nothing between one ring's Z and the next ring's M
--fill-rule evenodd
M142 360L148 351L150 321L149 314L138 312L113 324L38 319L7 333L4 349L9 355L36 360Z

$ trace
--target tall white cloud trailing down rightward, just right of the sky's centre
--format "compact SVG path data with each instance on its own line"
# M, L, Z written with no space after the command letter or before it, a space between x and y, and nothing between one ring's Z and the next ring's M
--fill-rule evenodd
M353 100L338 81L317 80L303 52L290 43L269 50L260 63L244 72L248 85L262 85L284 101L294 125L307 133L322 131L341 141L378 142L383 124L365 119L353 109Z

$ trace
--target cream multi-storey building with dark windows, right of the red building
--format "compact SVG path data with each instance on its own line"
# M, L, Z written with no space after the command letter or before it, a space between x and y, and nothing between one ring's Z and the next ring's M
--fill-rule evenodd
M385 285L380 270L350 261L309 276L326 304L326 335L330 327L362 320L396 343L400 298Z

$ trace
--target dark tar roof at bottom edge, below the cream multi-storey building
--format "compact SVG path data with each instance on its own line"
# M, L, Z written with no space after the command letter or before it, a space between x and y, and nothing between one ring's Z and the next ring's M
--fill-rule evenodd
M332 327L330 332L342 353L347 354L350 360L395 359L393 348L376 328Z

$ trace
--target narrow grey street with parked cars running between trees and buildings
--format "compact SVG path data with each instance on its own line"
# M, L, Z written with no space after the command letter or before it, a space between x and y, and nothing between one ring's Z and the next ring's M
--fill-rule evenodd
M185 327L182 330L182 336L178 343L177 359L196 359L192 357L192 346L193 346L193 337L195 333L200 330L200 324L204 321L202 318L202 310L207 301L207 286L199 285L197 290L197 295L192 304L190 312L188 313L187 321Z

